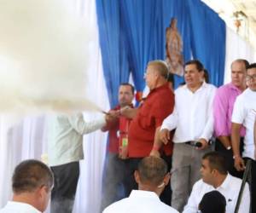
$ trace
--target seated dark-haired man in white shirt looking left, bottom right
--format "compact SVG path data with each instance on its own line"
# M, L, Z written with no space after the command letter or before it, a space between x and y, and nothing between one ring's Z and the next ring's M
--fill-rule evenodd
M212 190L222 193L226 199L226 213L234 213L241 187L241 179L230 176L224 155L218 152L206 153L201 161L200 181L195 182L188 204L183 213L196 213L202 197ZM239 213L248 213L250 209L250 191L246 184L240 203Z

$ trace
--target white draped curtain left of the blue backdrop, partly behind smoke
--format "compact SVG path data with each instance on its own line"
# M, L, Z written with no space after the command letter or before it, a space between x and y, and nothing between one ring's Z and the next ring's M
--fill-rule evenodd
M102 56L98 41L96 3L91 0L67 0L63 3L83 16L92 30L89 71L84 89L86 98L104 110L109 109L108 94L102 73ZM75 72L74 72L75 75ZM84 112L87 120L98 113ZM41 158L47 152L47 127L45 115L27 117L13 126L7 116L0 117L0 207L11 199L11 176L16 164L27 158ZM102 167L107 135L100 130L84 135L84 160L80 162L80 178L74 205L75 213L98 212L102 191ZM49 211L49 210L48 210Z

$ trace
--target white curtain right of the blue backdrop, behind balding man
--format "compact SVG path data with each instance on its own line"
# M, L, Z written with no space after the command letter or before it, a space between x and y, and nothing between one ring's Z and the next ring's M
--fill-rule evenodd
M224 83L230 82L230 65L236 59L246 59L249 63L256 62L256 50L253 49L250 43L227 27Z

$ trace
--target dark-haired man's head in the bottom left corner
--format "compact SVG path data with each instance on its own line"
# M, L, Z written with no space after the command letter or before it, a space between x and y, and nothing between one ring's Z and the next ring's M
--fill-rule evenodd
M31 204L40 211L47 208L54 177L49 167L35 159L21 162L12 177L14 201Z

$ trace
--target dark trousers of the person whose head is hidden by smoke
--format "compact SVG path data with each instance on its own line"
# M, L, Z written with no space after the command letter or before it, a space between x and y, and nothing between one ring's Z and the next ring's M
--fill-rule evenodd
M52 166L50 169L55 178L50 213L72 213L79 181L79 162Z

